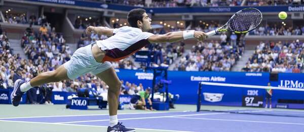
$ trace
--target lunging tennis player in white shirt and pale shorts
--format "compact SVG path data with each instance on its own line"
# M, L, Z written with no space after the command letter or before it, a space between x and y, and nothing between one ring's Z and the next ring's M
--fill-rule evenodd
M190 38L203 41L206 34L195 30L173 31L164 35L154 35L146 32L151 29L151 19L144 9L131 10L127 19L131 26L116 29L89 26L86 29L87 34L95 32L111 37L77 49L71 59L60 65L55 71L41 73L29 82L17 80L11 94L12 104L18 106L22 94L32 87L66 79L73 80L86 73L92 73L109 86L107 94L110 125L107 131L135 131L135 129L126 128L118 122L118 97L122 84L109 61L124 59L150 43L177 42Z

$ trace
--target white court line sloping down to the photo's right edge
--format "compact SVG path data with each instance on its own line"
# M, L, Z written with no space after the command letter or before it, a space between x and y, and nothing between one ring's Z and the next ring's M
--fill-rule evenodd
M290 124L290 125L304 125L304 123L288 123L288 122L272 122L272 121L254 121L254 120L232 120L232 119L191 118L191 117L171 117L171 118L198 119L198 120L220 120L220 121L238 121L238 122L256 122L256 123L274 123L274 124Z

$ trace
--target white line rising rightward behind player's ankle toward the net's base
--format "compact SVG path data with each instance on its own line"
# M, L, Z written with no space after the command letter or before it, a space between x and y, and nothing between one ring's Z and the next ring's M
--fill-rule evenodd
M137 119L153 119L153 118L168 118L168 117L182 117L182 116L198 116L198 115L219 115L219 114L230 114L230 113L205 113L205 114L188 114L188 115L172 115L172 116L155 116L155 117L138 117L138 118L123 118L119 120L137 120ZM81 123L81 122L95 122L95 121L108 121L109 119L104 120L84 120L84 121L71 121L71 122L57 122L59 124L65 123Z

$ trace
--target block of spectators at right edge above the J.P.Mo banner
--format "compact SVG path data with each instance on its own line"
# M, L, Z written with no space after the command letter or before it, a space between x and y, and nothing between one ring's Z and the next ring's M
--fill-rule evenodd
M242 71L300 73L304 62L304 43L260 42Z

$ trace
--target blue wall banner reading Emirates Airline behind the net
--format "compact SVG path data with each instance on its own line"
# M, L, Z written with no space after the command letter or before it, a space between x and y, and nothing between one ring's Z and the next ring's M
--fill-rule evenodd
M172 94L179 94L180 98L176 103L195 104L197 101L197 90L199 82L233 83L247 85L267 85L269 74L267 73L244 73L244 72L168 72L169 91ZM214 86L204 86L204 90L214 89ZM234 94L242 91L230 91ZM232 95L233 96L233 95Z

